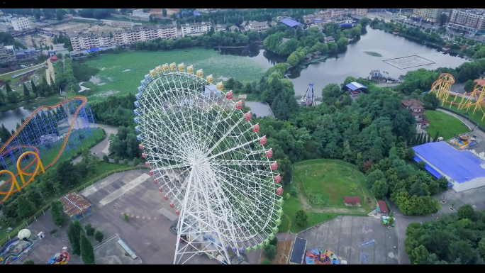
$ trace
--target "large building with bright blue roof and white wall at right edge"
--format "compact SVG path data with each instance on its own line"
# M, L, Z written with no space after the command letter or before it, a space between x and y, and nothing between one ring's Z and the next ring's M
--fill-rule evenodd
M416 162L423 161L433 176L446 177L455 191L485 186L485 161L467 150L458 151L444 141L413 147Z

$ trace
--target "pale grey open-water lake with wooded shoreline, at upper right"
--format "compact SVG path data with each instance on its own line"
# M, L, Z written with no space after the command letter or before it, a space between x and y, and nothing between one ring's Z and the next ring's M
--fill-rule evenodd
M221 49L221 54L243 55L266 69L279 62L286 62L285 56L276 55L259 47ZM398 69L382 62L399 57L418 55L435 62L431 65ZM457 67L467 60L460 57L444 55L434 48L413 42L406 38L374 30L367 27L367 33L356 43L348 45L345 52L328 57L325 62L317 62L305 68L294 67L286 75L295 87L296 96L303 96L309 83L313 83L316 96L321 96L325 85L335 82L342 84L347 76L367 77L372 69L389 72L389 77L398 78L411 70L419 68L435 69L437 67Z

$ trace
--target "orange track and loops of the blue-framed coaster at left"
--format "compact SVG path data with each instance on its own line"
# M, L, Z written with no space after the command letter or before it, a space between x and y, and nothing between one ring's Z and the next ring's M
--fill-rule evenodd
M43 167L42 165L42 162L40 162L40 158L38 156L38 149L37 147L34 147L34 146L30 146L30 145L26 145L26 146L16 146L16 147L11 147L9 148L9 150L6 150L6 148L8 147L8 145L12 142L12 140L14 140L18 134L21 132L21 130L28 124L28 122L38 113L38 111L42 110L42 109L52 109L52 108L56 108L58 106L61 106L62 104L67 104L67 102L69 101L82 101L82 104L80 104L79 106L77 106L77 109L76 111L74 112L74 115L72 117L72 121L71 121L71 124L69 125L69 130L67 131L67 134L64 138L64 142L62 143L62 146L59 150L59 152L57 153L56 157L54 158L54 160L52 160L52 162L49 163L49 165L47 165L46 167ZM87 99L85 96L74 96L73 98L71 99L65 99L63 101L60 101L60 103L58 104L55 104L53 106L39 106L38 108L35 109L35 111L33 111L33 113L26 119L26 121L24 121L22 123L22 125L16 130L16 132L11 135L11 137L9 138L9 140L7 140L4 145L2 145L0 147L0 157L5 155L7 152L10 152L11 150L15 150L15 149L18 149L20 147L26 147L26 148L30 148L30 149L33 149L35 150L35 152L24 152L20 157L18 157L18 160L17 160L17 169L18 169L18 174L13 174L12 172L10 171L7 171L7 170L3 170L0 172L0 174L3 174L3 173L6 173L6 174L9 174L10 175L10 179L6 181L6 184L8 184L9 182L12 182L11 186L10 186L10 189L9 191L0 191L0 194L6 194L6 196L4 197L4 199L0 202L3 203L4 201L6 201L6 199L9 198L9 196L11 196L11 194L15 193L16 191L20 191L21 189L23 189L24 187L26 187L30 182L33 181L35 175L37 175L39 173L39 168L44 172L45 169L48 169L49 167L52 167L52 165L55 164L55 162L57 162L57 160L59 160L59 158L61 157L62 155L62 152L64 152L64 149L67 145L67 140L69 140L69 135L71 134L71 131L72 131L72 128L74 128L74 123L76 122L76 119L77 119L77 114L79 113L79 111L87 104ZM35 162L35 160L33 162L30 162L29 165L27 165L26 167L24 167L23 169L20 167L20 162L21 162L21 159L23 157L25 157L26 155L34 155L35 156L35 160L37 160L37 167L35 167L35 171L34 172L25 172L26 169L30 166L33 165L33 163ZM27 182L25 182L25 180L23 179L23 174L26 174L26 175L29 175L31 176L30 179L27 180ZM21 180L22 180L22 186L19 186L18 185L18 182L16 180L15 177L19 176L21 177ZM14 186L17 187L17 189L14 189Z

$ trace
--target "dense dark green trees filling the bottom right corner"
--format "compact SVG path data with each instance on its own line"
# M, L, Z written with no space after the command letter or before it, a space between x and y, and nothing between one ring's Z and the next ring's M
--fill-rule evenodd
M406 228L406 253L413 264L485 264L485 211L471 205L438 220Z

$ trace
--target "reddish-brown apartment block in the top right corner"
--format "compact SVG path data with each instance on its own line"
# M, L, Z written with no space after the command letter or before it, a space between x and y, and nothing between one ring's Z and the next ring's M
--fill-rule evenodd
M485 33L484 9L453 9L448 28L469 33Z

